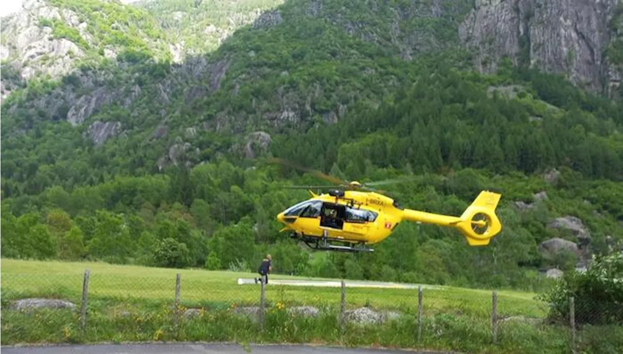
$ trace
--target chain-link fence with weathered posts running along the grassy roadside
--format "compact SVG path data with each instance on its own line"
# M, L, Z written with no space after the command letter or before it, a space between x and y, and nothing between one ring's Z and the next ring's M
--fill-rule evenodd
M516 292L272 276L263 284L249 274L119 269L0 274L0 344L37 336L53 342L211 341L254 338L272 328L262 338L378 336L383 342L394 336L397 346L457 348L532 340L535 347L580 353L603 347L613 333L623 335L623 307L599 299L569 297L566 310L553 316L546 304ZM63 309L71 311L54 315ZM44 328L58 329L31 333L31 313L39 313L34 320L55 323ZM623 352L617 345L612 343L612 353Z

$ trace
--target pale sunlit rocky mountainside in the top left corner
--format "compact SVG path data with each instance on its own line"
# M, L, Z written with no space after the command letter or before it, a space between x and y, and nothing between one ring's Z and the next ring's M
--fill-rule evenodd
M134 42L128 41L130 31L126 27L130 24L118 21L126 7L114 1L102 4L107 4L108 12L103 14L102 10L97 17L88 13L92 10L89 6L97 7L97 3L24 0L21 11L0 18L0 99L4 100L20 82L35 77L60 79L83 60L97 63L114 59L127 43L145 44L154 53L169 55L168 43L157 38L161 32L148 24L141 23L142 29L132 24Z

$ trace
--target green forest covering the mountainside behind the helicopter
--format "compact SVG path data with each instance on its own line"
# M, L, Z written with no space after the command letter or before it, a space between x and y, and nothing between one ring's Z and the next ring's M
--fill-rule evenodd
M113 3L108 17L52 1L93 28L121 16L128 30L114 40L125 49L114 60L77 62L63 79L27 82L1 105L0 257L254 271L270 252L279 274L536 290L546 284L540 269L578 261L538 251L553 237L578 241L548 227L555 218L581 219L595 254L608 252L607 236L621 239L621 102L510 60L497 74L478 74L470 53L453 47L465 1L448 6L447 17L402 24L444 44L411 61L383 40L384 12L374 21L363 7L345 15L376 24L380 39L369 42L305 16L300 2L280 6L278 24L241 25L217 49L174 64L144 39L194 33L152 18L172 11L166 1L128 16ZM340 4L325 2L325 13ZM180 4L198 17L209 12L201 1ZM221 5L222 22L249 10ZM43 22L57 36L76 35L59 20ZM156 23L163 29L138 31ZM110 36L95 36L101 50ZM188 74L201 60L207 71ZM224 62L226 74L215 79ZM135 87L133 102L111 100L82 125L67 122L63 97ZM123 133L95 145L88 128L96 121L120 122ZM270 135L267 146L249 140L260 130ZM416 176L388 186L388 195L434 213L460 215L481 189L495 188L503 231L489 246L470 247L452 229L403 223L371 254L310 252L278 232L275 216L309 196L283 186L318 179L265 162L273 156L346 180ZM558 178L546 179L553 169Z

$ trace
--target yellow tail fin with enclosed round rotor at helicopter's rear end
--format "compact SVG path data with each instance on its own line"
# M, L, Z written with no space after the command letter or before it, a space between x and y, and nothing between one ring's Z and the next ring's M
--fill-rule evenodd
M502 223L495 214L502 195L482 191L453 226L465 236L470 246L486 246L493 236L502 231Z

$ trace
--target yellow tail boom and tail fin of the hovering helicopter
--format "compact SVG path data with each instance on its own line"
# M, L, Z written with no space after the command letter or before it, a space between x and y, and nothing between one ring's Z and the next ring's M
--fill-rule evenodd
M495 208L501 196L498 193L481 191L459 218L405 209L404 219L440 226L454 226L459 229L470 246L486 246L492 237L502 230L500 219L495 214Z

